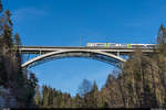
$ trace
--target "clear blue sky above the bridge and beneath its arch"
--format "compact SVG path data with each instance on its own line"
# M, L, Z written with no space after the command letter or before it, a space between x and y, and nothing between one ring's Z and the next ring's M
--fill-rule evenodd
M155 43L166 23L165 0L2 0L23 45L85 46L87 42ZM81 42L80 42L81 40ZM101 88L113 66L64 58L31 70L39 84L75 95L86 78Z

